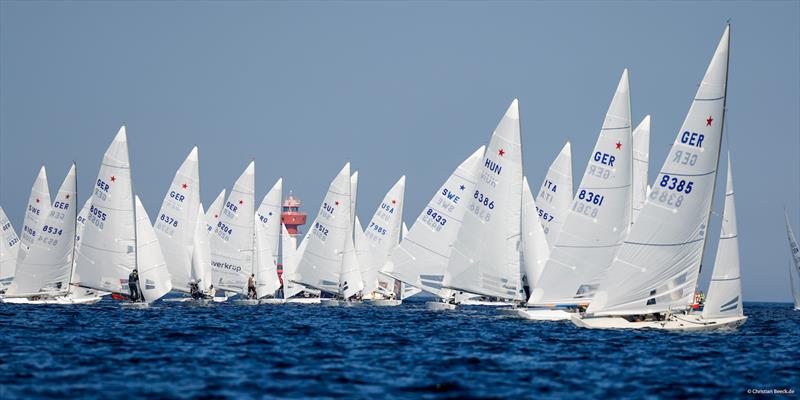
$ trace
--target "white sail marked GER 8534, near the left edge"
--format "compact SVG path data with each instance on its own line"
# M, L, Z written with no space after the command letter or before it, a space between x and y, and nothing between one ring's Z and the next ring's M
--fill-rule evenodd
M69 291L75 256L77 221L77 179L75 164L67 172L50 211L35 229L36 239L27 253L20 252L9 296L47 294Z

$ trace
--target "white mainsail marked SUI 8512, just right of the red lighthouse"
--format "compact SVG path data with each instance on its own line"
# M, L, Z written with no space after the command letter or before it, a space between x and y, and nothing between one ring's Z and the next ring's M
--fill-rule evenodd
M331 182L317 218L300 245L302 254L290 280L340 294L345 239L352 234L353 226L350 203L350 163L347 163Z

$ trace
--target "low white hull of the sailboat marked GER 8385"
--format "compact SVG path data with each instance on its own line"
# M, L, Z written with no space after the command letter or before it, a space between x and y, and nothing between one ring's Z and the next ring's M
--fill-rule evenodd
M703 318L700 314L673 315L665 321L631 322L622 317L583 318L573 314L572 323L588 329L656 329L664 331L713 331L732 330L742 326L747 317Z

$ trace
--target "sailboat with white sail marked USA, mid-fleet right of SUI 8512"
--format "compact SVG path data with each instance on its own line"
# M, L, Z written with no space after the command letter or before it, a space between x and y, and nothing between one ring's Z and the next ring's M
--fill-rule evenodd
M395 279L380 275L378 271L400 244L405 187L406 177L402 176L386 192L366 229L359 232L361 227L357 224L356 251L360 254L368 253L361 266L364 279L363 298L369 299L376 306L396 306L402 301L399 284L395 285Z

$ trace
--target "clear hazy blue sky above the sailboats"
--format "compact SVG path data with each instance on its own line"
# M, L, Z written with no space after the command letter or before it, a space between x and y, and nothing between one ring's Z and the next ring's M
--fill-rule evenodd
M634 123L653 118L652 181L728 19L725 134L744 296L789 301L784 207L800 231L795 1L2 1L0 205L19 230L38 166L55 191L72 160L85 198L126 124L150 215L196 144L205 204L255 157L259 198L283 177L314 214L351 161L361 219L405 174L410 223L515 97L533 190L566 140L577 185L623 68Z

